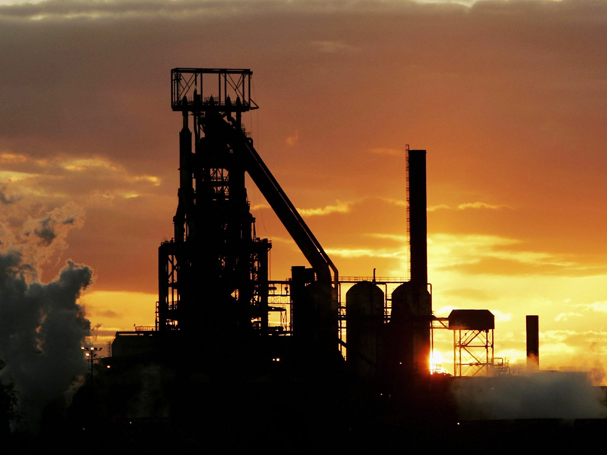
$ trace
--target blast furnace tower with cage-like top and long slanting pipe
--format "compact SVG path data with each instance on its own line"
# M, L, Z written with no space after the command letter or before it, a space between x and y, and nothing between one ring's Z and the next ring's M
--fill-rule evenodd
M293 268L293 335L337 351L338 272L243 129L242 113L257 109L251 75L171 70L172 109L183 115L180 187L174 238L158 249L156 328L215 345L268 335L271 243L256 235L247 172L311 265Z

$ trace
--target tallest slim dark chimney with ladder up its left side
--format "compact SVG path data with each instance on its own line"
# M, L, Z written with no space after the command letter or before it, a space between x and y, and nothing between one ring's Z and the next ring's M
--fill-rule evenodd
M426 150L409 150L409 219L411 281L425 289L428 283Z

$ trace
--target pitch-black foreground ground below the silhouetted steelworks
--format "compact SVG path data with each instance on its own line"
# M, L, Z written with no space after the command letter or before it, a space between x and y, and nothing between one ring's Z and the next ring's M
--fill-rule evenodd
M460 420L452 378L370 383L342 366L270 365L245 376L114 361L39 429L0 453L585 453L604 450L607 419Z

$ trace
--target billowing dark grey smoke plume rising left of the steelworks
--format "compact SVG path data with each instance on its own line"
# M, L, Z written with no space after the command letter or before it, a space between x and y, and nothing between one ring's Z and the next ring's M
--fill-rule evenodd
M0 380L15 385L18 411L32 429L86 370L80 348L90 322L77 302L92 270L67 260L52 281L39 280L41 263L80 223L80 209L67 204L18 227L0 224Z

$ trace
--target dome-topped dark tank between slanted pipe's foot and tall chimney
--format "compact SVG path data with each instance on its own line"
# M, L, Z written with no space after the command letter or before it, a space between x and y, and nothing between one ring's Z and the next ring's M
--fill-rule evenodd
M359 376L375 376L382 363L384 291L371 281L359 281L345 295L346 356Z

